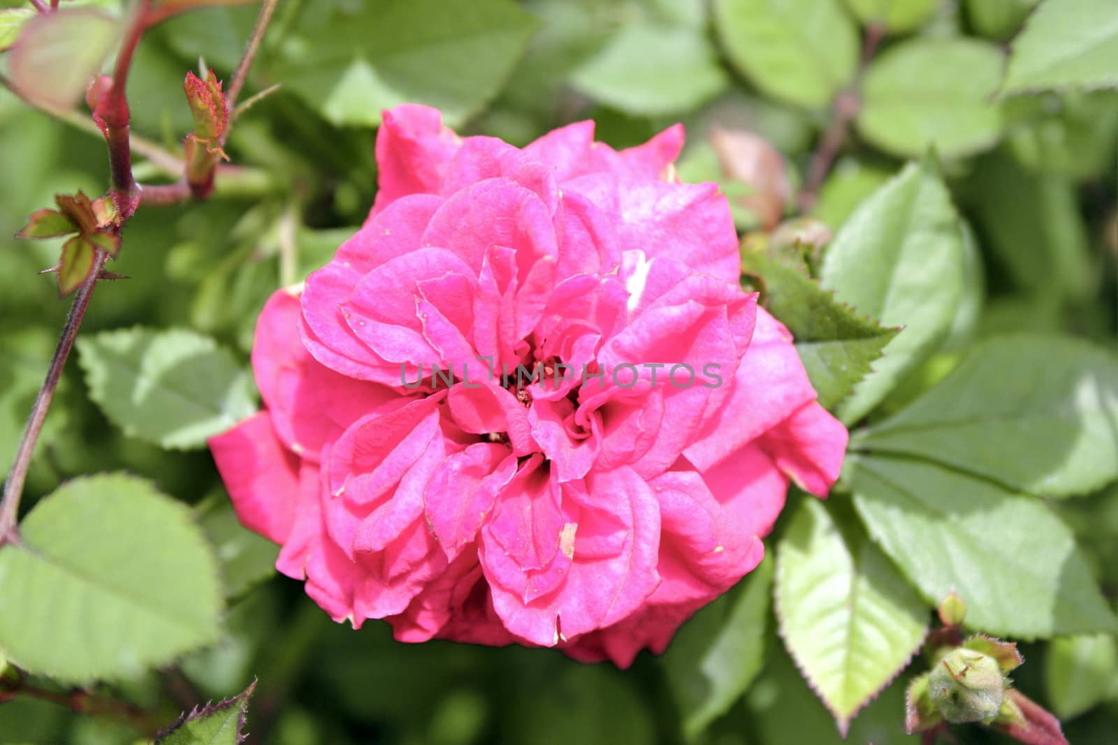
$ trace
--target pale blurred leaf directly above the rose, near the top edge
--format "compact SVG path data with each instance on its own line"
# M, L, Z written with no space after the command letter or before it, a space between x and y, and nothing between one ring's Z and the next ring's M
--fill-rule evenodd
M629 114L676 114L729 83L702 28L633 22L571 76L580 93Z

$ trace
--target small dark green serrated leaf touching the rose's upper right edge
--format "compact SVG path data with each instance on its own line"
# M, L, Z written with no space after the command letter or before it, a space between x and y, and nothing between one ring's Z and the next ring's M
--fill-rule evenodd
M741 266L745 274L761 278L768 311L795 336L812 386L827 409L850 395L899 331L860 316L803 270L768 254L745 250Z

